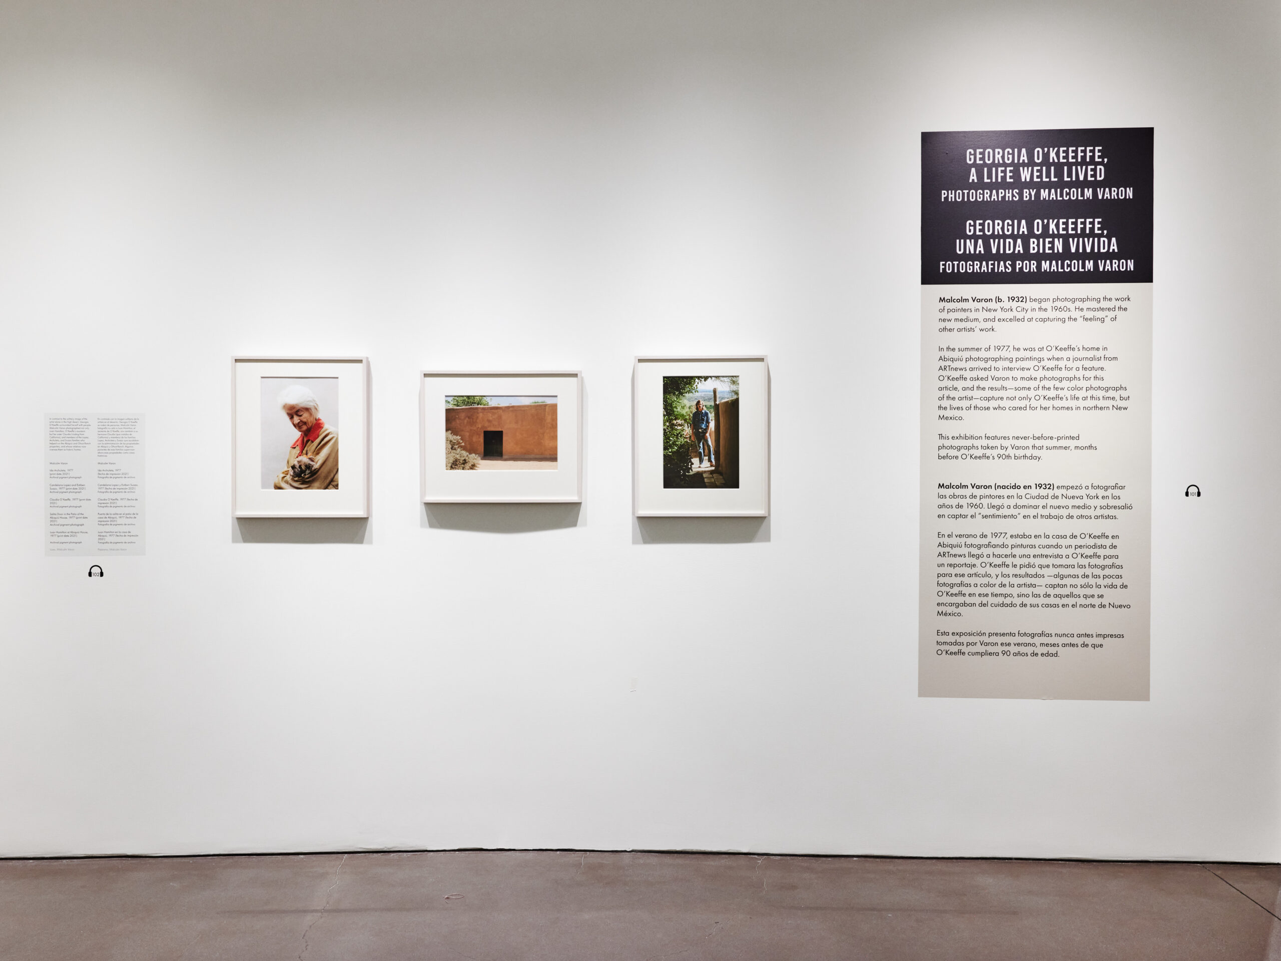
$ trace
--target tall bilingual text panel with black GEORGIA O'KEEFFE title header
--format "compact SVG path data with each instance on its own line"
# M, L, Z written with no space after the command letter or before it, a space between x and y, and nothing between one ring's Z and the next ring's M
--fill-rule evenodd
M922 137L920 693L1148 697L1152 131Z

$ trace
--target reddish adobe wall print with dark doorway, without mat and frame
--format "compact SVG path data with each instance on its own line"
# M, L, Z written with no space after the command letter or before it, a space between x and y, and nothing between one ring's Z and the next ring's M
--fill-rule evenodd
M556 397L446 397L445 433L451 470L556 469Z

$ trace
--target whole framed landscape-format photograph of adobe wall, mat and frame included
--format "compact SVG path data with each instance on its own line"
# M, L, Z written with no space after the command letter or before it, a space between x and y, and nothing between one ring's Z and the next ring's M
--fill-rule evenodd
M583 375L424 370L425 504L583 500Z

